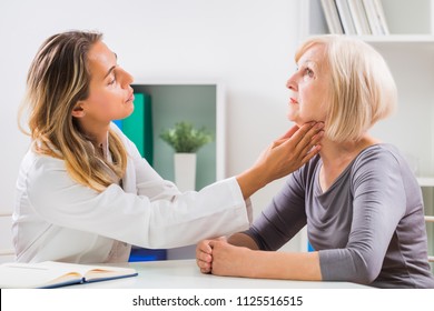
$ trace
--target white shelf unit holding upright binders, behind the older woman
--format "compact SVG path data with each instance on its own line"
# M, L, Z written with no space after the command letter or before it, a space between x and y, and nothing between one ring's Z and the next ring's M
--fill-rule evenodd
M299 41L328 33L320 0L300 0ZM398 89L398 109L372 129L398 147L418 177L428 251L434 253L434 0L382 0L391 34L359 36L385 58ZM434 265L432 265L434 271Z

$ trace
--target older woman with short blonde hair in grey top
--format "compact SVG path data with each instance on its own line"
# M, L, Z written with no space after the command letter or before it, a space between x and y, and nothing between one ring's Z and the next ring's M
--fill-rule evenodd
M288 119L325 123L322 149L249 230L197 247L203 272L434 288L421 189L402 153L368 134L396 104L383 58L356 39L307 40L287 82ZM314 252L274 252L307 224Z

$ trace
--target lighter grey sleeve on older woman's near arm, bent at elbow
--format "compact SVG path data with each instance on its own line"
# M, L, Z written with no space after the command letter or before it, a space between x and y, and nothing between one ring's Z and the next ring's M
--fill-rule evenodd
M352 229L344 249L319 251L323 280L371 283L379 274L406 197L397 159L389 152L359 160L352 175Z

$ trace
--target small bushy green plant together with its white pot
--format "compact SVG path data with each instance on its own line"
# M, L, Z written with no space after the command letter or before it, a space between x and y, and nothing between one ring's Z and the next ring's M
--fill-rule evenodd
M196 188L196 152L213 137L205 128L195 129L189 122L178 122L160 133L160 139L175 150L175 183L181 191Z

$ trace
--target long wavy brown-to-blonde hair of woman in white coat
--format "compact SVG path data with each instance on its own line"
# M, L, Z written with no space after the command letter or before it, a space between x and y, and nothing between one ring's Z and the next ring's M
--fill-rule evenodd
M127 152L119 137L110 130L112 162L102 159L72 118L77 102L89 96L88 53L99 40L102 40L101 33L83 31L48 38L30 66L19 119L27 108L33 150L62 159L72 179L100 192L124 177Z

